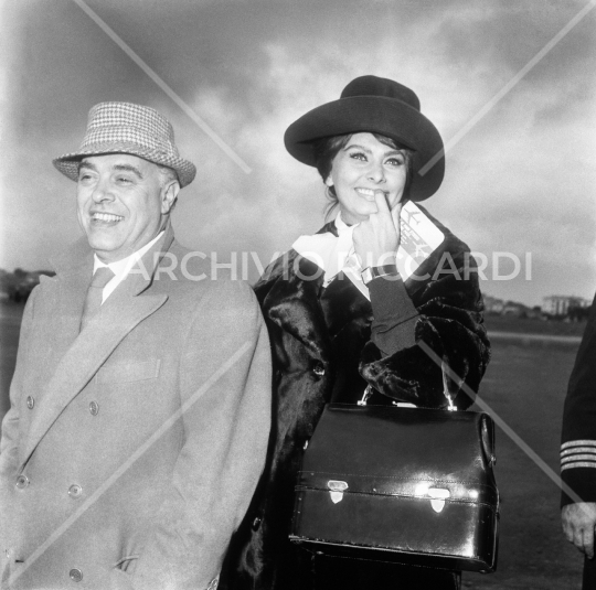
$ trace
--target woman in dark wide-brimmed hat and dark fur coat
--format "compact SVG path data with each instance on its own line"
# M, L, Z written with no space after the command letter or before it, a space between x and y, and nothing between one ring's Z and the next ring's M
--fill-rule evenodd
M421 340L461 377L451 384L458 408L473 401L461 384L476 391L485 373L489 342L468 247L429 216L441 244L406 280L395 264L402 206L443 181L440 136L409 88L362 76L290 125L285 143L317 168L339 214L301 236L256 286L276 411L268 469L231 548L227 587L458 588L458 572L313 558L288 540L296 474L326 403L355 404L370 385L371 404L446 407L441 369Z

